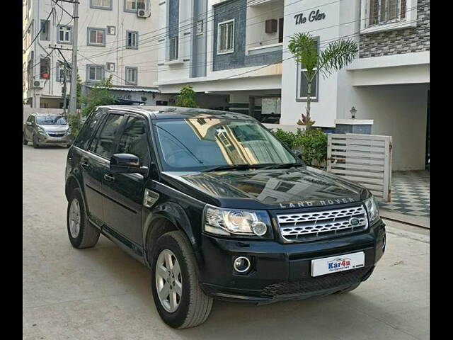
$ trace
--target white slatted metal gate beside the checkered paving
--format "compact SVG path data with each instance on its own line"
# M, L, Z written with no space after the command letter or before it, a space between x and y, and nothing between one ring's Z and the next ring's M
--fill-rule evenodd
M367 187L390 201L391 136L328 134L327 171Z

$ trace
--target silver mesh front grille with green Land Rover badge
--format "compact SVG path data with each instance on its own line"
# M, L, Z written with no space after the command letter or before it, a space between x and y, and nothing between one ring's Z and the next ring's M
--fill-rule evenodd
M367 212L363 205L334 210L279 214L277 222L282 237L288 242L336 237L360 232L368 227Z

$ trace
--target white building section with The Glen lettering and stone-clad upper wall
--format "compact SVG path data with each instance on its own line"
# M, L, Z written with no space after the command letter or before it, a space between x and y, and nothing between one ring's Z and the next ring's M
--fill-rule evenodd
M373 134L393 137L394 170L425 169L428 158L429 6L430 0L306 0L285 7L285 18L291 18L285 21L285 46L290 35L306 31L321 49L338 38L359 45L352 64L320 76L312 89L315 126L336 128L339 119L351 118L353 106L357 120L373 120ZM318 10L323 18L311 21ZM298 24L294 12L308 20ZM305 111L306 88L289 52L283 59L280 123L294 124Z

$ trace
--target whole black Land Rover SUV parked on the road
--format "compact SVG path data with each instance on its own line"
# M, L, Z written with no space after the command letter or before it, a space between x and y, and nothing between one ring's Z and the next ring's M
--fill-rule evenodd
M305 166L248 115L101 106L67 157L69 240L103 234L151 268L171 327L212 298L258 304L352 290L385 250L362 186Z

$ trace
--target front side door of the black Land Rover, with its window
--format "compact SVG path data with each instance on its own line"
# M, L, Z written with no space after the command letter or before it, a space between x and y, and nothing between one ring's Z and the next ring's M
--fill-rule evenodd
M134 154L141 166L149 167L149 126L139 115L126 115L127 121L115 153ZM145 178L141 174L111 174L103 177L105 225L125 237L134 249L142 244L142 204ZM118 235L117 235L118 237Z

